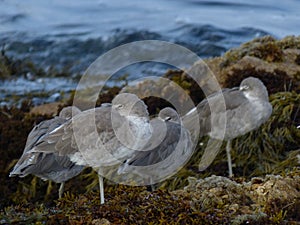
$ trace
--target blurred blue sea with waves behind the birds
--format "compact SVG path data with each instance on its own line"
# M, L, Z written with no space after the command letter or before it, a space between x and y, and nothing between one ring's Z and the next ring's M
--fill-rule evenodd
M59 100L97 57L132 41L169 41L208 58L255 37L299 35L299 9L299 0L0 0L1 51L48 75L1 80L0 104L29 93L34 104ZM122 73L133 80L165 71L146 64Z

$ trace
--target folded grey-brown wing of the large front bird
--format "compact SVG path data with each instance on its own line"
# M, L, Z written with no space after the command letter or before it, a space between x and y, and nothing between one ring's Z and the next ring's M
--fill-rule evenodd
M115 115L115 114L116 115ZM114 114L114 116L112 116ZM74 116L71 120L54 129L41 142L35 146L35 152L56 152L60 156L78 152L78 144L89 144L85 142L91 134L95 137L101 136L102 143L111 139L113 128L120 126L122 119L116 119L112 125L112 118L121 117L118 113L112 112L111 107L98 107L86 110Z

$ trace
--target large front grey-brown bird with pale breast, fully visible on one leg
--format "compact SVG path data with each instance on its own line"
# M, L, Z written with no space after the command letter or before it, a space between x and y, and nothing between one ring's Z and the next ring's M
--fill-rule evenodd
M111 104L82 111L52 131L37 152L67 156L79 166L98 171L100 203L104 204L102 168L118 165L151 136L149 113L136 95L122 93Z

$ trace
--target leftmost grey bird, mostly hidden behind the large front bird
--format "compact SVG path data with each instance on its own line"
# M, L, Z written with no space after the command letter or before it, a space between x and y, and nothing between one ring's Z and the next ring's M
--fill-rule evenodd
M80 113L78 108L68 106L63 108L58 116L50 120L42 121L36 125L29 133L24 152L9 176L25 177L29 174L33 174L43 180L60 183L59 198L61 198L65 181L78 175L84 167L75 165L67 156L59 156L51 152L35 152L33 149L38 146L40 142L47 140L51 131L78 113Z

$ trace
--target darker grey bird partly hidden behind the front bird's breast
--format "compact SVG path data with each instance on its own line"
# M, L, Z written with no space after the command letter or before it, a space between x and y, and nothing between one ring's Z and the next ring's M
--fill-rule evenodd
M150 124L153 135L149 142L142 151L135 151L119 166L118 174L137 175L133 177L135 185L151 185L153 189L153 184L174 175L184 166L193 153L194 145L189 131L182 126L173 108L160 110Z

